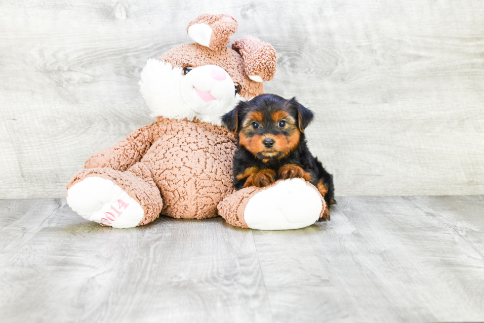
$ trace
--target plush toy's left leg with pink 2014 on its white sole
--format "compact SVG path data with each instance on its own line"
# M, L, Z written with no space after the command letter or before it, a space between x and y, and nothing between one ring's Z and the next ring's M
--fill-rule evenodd
M83 218L114 228L147 224L160 215L163 202L150 169L137 162L121 172L83 169L67 185L67 202Z

